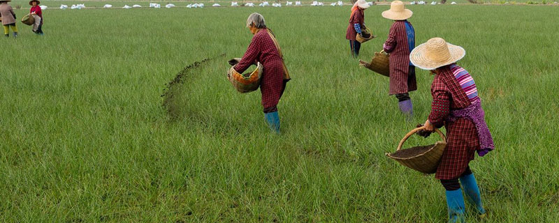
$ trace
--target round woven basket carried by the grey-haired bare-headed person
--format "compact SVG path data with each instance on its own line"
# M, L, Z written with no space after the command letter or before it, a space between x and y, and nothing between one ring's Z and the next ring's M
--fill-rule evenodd
M258 63L256 70L250 74L242 75L237 72L233 67L227 72L227 79L233 84L233 87L237 89L240 93L248 93L251 91L256 91L260 86L260 80L263 75L263 66Z

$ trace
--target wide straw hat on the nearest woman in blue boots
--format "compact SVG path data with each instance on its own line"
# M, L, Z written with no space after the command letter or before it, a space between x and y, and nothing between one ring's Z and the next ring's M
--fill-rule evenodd
M409 53L409 60L423 70L435 70L459 61L466 55L464 48L451 45L442 38L431 38Z

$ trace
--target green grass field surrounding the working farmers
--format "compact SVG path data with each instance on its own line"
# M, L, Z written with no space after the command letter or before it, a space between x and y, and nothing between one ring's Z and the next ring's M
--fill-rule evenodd
M381 49L388 7L365 11L379 38L361 59ZM440 36L467 50L460 65L477 82L496 146L471 163L484 222L558 222L556 8L409 8L418 43ZM254 11L293 77L281 136L269 133L260 93L236 93L225 78ZM433 77L417 70L406 123L388 79L350 58L348 11L45 10L42 37L18 23L19 38L0 38L0 220L444 222L440 183L384 155L426 120ZM171 118L166 83L222 53L173 87Z

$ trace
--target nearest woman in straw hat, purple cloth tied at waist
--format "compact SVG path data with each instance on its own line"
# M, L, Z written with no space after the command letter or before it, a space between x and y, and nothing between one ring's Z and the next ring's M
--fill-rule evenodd
M495 148L474 79L456 65L464 56L462 47L446 43L442 38L428 40L409 55L416 67L435 74L431 85L431 112L423 129L433 132L442 125L447 129L447 148L442 153L435 178L440 179L447 191L449 222L465 220L460 183L467 200L476 207L477 214L484 217L486 211L469 163L475 151L484 156Z

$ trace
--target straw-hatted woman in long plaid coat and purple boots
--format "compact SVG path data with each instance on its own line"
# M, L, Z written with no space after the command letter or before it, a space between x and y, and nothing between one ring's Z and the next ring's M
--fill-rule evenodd
M409 52L415 47L414 27L407 22L412 14L411 10L404 7L402 1L393 1L390 10L382 12L382 17L394 20L390 27L389 38L383 45L384 52L390 53L389 95L396 95L398 107L407 115L408 120L414 114L409 91L417 90L415 67L409 62Z

